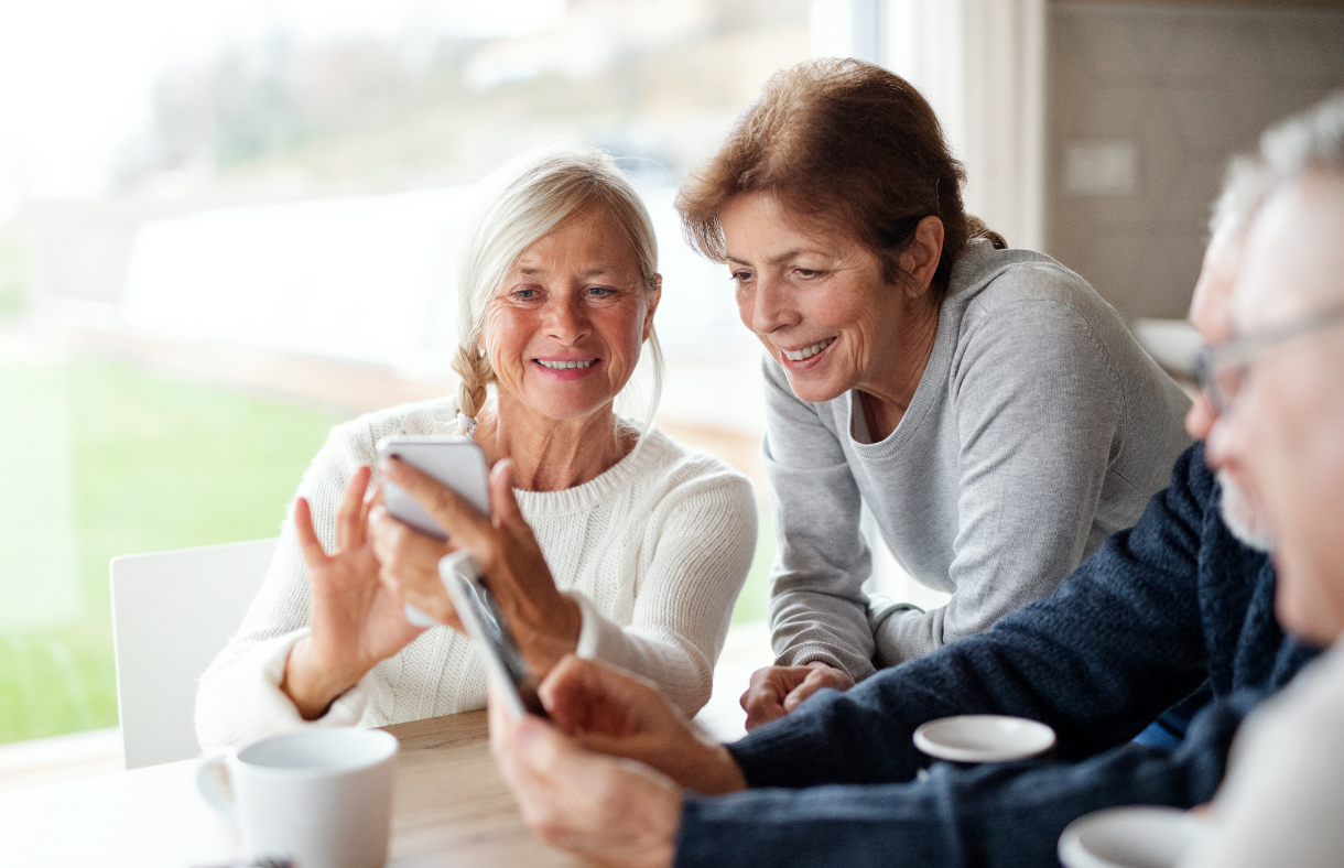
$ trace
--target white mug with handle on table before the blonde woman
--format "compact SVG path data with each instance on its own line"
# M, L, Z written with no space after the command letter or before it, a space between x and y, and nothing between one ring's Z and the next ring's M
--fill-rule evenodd
M383 868L396 748L382 730L304 730L202 758L196 785L238 828L249 859Z

